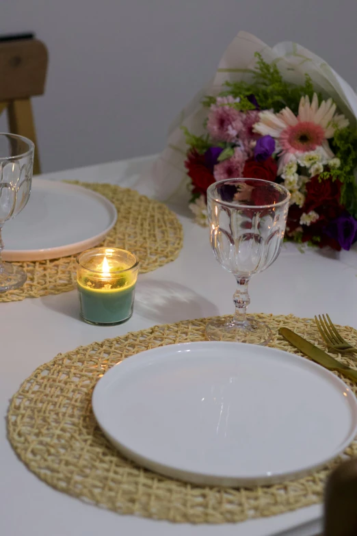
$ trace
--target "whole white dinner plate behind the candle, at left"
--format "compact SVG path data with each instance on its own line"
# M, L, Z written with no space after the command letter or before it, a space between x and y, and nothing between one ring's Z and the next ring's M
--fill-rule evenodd
M3 259L40 261L98 245L116 223L116 207L92 190L33 179L23 211L5 223Z

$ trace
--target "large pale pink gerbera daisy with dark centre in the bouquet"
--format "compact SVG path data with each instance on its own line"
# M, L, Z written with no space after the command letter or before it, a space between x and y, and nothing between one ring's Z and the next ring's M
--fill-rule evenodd
M334 156L328 144L337 128L349 124L345 116L335 114L336 105L332 99L322 101L319 105L317 94L313 99L305 96L300 99L297 116L286 107L278 114L267 110L260 112L259 123L254 125L254 131L262 136L272 136L276 139L276 149L280 153L278 174L291 159L307 151L319 149L326 159Z

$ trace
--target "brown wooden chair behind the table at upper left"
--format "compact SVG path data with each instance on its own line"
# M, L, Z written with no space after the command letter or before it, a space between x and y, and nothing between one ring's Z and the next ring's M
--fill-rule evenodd
M0 39L0 114L8 112L9 131L36 145L34 174L40 158L30 98L44 93L47 48L37 39Z

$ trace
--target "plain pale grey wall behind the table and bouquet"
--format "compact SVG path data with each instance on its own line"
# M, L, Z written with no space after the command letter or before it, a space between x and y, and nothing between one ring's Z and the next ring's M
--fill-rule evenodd
M44 171L159 151L239 29L300 42L357 86L356 0L0 0L0 21L49 49Z

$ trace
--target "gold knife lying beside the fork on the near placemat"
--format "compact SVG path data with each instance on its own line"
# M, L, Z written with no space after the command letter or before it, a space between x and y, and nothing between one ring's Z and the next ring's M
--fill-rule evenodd
M297 350L300 350L300 352L310 357L310 359L313 359L313 361L316 361L316 363L319 363L319 365L328 368L328 370L337 370L341 372L341 374L345 374L347 378L357 381L357 370L349 368L347 365L343 365L343 363L340 363L337 361L337 359L334 359L332 355L328 355L328 353L320 350L320 348L317 348L315 344L311 344L310 342L306 341L300 337L300 335L297 335L297 333L291 331L291 329L280 328L279 333L282 335L282 337L289 341L290 344L295 346Z

